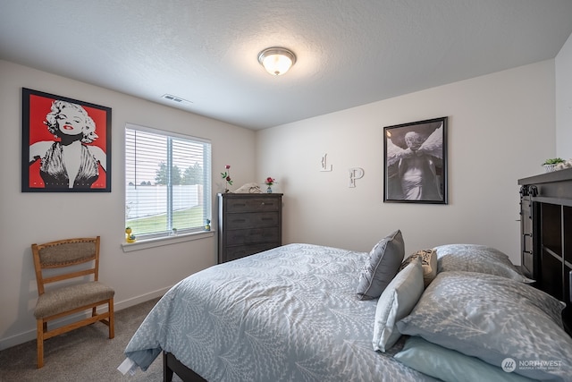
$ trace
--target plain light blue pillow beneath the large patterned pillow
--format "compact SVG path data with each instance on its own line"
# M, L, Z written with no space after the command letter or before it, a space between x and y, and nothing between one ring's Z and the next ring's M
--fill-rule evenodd
M534 379L504 371L475 357L409 337L403 350L393 356L411 369L445 382L530 382Z

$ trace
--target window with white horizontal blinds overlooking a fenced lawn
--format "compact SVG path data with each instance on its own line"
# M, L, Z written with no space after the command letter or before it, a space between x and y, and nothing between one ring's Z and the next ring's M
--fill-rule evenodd
M139 239L202 231L211 216L209 140L125 127L125 226Z

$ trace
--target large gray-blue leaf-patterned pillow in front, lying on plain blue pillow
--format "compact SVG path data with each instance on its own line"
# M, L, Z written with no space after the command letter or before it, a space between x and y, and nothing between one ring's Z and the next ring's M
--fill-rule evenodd
M513 366L526 378L569 380L572 338L561 326L563 308L506 277L450 271L435 277L397 327L494 366Z

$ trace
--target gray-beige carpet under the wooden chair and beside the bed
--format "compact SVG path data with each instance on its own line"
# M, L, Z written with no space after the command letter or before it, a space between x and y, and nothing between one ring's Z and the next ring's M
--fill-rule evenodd
M123 350L158 299L115 312L115 338L97 322L44 344L44 367L36 368L36 341L0 352L0 381L154 381L163 380L163 358L159 355L146 372L123 376L117 367L125 359ZM176 376L173 381L181 381Z

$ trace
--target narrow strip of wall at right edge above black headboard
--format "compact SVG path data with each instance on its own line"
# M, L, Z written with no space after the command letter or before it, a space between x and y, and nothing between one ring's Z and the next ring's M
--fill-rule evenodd
M559 51L556 66L556 157L572 159L572 35Z

